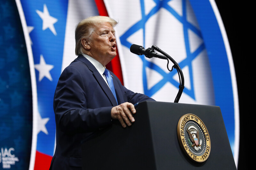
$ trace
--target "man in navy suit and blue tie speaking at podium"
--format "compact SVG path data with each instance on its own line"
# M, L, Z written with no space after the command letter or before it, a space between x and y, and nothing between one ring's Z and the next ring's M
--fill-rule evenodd
M112 18L95 16L76 26L78 57L62 72L54 94L56 150L50 169L81 169L84 138L111 125L113 119L124 128L131 126L134 104L153 100L126 89L112 72L104 75L105 66L116 56L116 24Z

